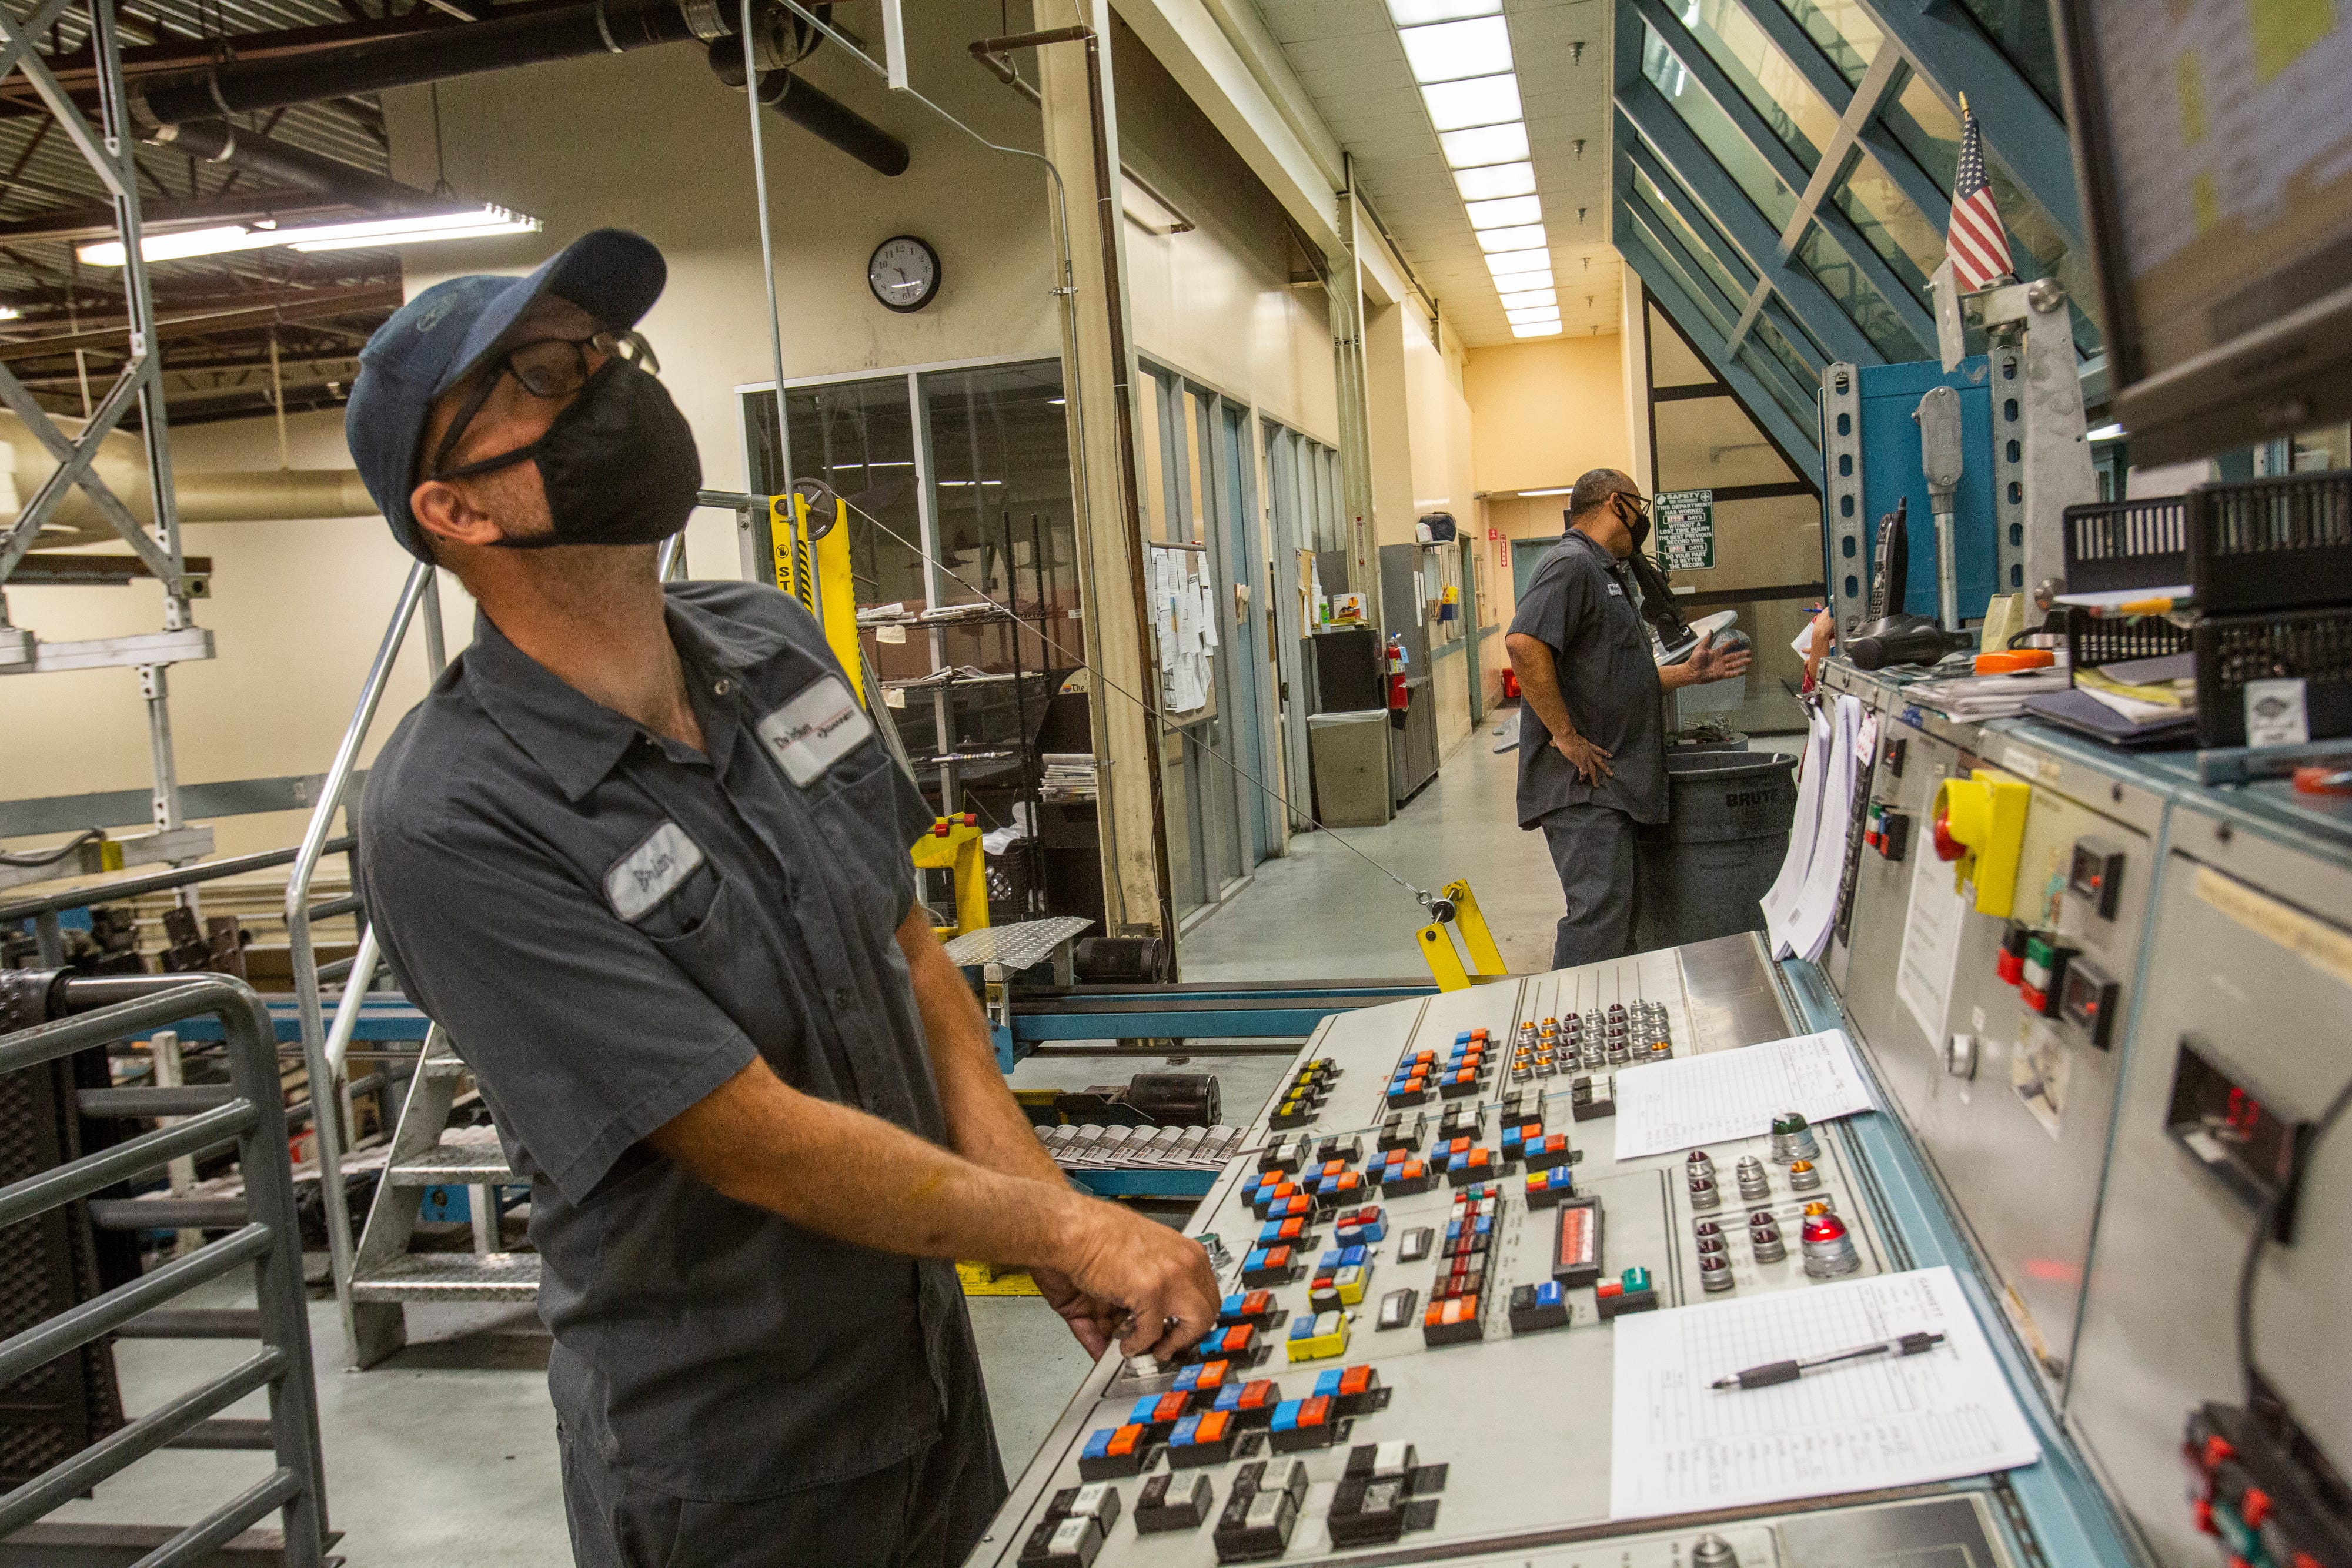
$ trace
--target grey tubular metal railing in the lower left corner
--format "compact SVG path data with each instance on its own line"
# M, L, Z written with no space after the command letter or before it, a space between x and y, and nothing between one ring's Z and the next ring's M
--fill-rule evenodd
M254 1265L259 1307L249 1321L259 1331L261 1349L228 1373L172 1396L120 1432L0 1495L0 1537L73 1497L87 1495L99 1481L174 1439L198 1434L202 1422L238 1399L268 1389L268 1432L278 1467L143 1556L141 1568L200 1563L273 1509L285 1530L287 1568L318 1568L327 1542L325 1465L320 1460L318 1385L310 1368L310 1321L301 1279L301 1225L294 1215L285 1091L278 1079L278 1032L268 1009L252 987L228 976L68 976L54 985L49 1011L78 1016L0 1037L0 1072L21 1072L89 1046L209 1013L221 1020L221 1032L228 1039L233 1095L174 1126L141 1133L0 1187L0 1225L16 1225L61 1204L87 1199L127 1175L162 1168L174 1157L226 1143L238 1145L247 1220L193 1253L0 1340L0 1385L99 1335L118 1333L141 1314L247 1262Z

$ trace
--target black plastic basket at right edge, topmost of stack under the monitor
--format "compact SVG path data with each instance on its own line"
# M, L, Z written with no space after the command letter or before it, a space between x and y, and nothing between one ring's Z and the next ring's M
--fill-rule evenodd
M2352 604L2352 470L2190 491L2187 581L2209 616Z

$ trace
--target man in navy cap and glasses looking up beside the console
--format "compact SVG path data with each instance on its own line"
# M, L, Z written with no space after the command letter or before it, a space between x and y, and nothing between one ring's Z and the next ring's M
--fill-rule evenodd
M953 1258L1089 1352L1216 1319L1202 1248L1040 1150L931 936L931 827L816 623L654 574L694 435L597 230L376 331L346 433L473 646L367 780L386 959L532 1182L583 1568L960 1563L1004 1497Z

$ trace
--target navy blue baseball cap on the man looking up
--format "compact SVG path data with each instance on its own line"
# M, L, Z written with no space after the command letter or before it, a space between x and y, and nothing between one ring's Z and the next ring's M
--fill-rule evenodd
M360 482L393 524L393 538L430 562L409 512L416 444L433 400L473 374L541 294L569 299L614 331L628 331L661 299L670 266L644 235L597 228L555 252L529 277L473 273L437 282L376 327L343 407L343 440Z

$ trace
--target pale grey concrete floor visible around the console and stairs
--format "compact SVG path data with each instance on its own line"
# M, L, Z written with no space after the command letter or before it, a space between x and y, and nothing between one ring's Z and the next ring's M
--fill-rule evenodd
M1489 719L1444 759L1444 771L1392 823L1345 830L1348 844L1409 882L1437 889L1468 877L1510 969L1543 969L1559 914L1559 886L1534 835L1512 816L1515 757L1496 755ZM1181 943L1185 980L1414 978L1423 976L1414 931L1423 912L1336 835L1310 832L1268 860L1225 907ZM1216 1072L1223 1114L1244 1121L1282 1077L1279 1056L1223 1056L1190 1041L1188 1070ZM1018 1088L1082 1088L1122 1081L1152 1060L1054 1058L1023 1063ZM221 1288L212 1300L235 1305ZM971 1319L988 1368L990 1408L1007 1472L1018 1472L1077 1389L1087 1359L1035 1298L976 1298ZM555 1415L546 1389L546 1335L510 1307L419 1307L412 1345L367 1373L341 1371L334 1302L310 1309L318 1347L320 1422L329 1516L355 1568L564 1568ZM249 1347L125 1340L115 1349L125 1401L136 1415L226 1371ZM247 1401L235 1415L266 1413ZM162 1453L75 1502L59 1519L186 1523L263 1474L263 1455Z

